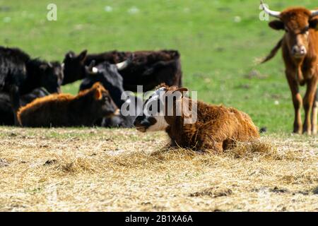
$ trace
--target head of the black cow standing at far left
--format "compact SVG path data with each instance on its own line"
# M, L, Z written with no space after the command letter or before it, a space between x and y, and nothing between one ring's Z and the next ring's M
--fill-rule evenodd
M64 73L61 64L57 61L42 62L40 65L40 84L49 93L61 93L61 83Z

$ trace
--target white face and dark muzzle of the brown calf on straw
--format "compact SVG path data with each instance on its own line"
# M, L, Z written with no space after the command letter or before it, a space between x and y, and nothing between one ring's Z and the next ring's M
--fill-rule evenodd
M165 91L167 88L159 88L143 104L143 114L136 117L134 126L141 132L164 131L167 129L165 121Z

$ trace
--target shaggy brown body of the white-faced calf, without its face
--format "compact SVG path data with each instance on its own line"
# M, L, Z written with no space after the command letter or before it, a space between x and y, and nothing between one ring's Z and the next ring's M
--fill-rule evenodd
M184 101L182 97L179 101ZM192 106L192 100L187 98ZM237 141L259 138L259 130L252 119L235 108L196 102L197 121L184 124L184 112L179 117L165 117L166 131L172 145L184 148L212 149L218 152L235 145Z

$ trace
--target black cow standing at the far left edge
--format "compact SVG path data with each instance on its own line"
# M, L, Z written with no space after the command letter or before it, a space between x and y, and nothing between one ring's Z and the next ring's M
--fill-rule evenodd
M10 93L14 113L20 108L20 95L40 87L59 93L62 81L63 70L58 62L31 59L20 49L0 47L0 91Z

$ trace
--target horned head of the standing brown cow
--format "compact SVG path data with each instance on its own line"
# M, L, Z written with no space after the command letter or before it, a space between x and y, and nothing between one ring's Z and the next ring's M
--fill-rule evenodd
M285 40L290 55L294 59L303 59L309 49L311 29L318 29L318 10L309 11L306 8L288 8L285 11L271 11L261 1L263 10L270 16L278 18L269 23L275 30L285 30Z

